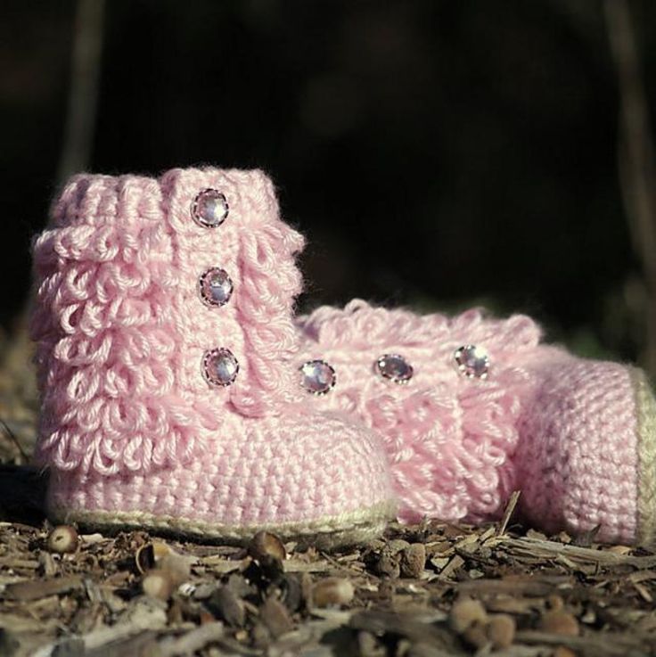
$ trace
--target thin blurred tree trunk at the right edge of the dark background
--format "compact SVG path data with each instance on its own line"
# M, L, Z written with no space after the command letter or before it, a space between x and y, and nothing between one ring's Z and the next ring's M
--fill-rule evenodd
M627 0L604 0L619 91L619 181L643 268L642 364L656 376L656 168L649 107Z

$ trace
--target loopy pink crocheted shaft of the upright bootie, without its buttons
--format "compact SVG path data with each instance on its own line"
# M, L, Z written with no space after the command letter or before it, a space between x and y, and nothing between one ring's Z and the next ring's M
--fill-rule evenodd
M190 218L201 184L228 198L217 229ZM33 245L37 459L64 471L147 472L190 462L209 435L230 431L234 414L222 407L276 413L298 394L284 362L298 344L289 317L301 285L288 256L302 246L259 171L73 177ZM202 315L198 276L217 264L239 293ZM240 362L239 385L220 394L200 372L215 346Z

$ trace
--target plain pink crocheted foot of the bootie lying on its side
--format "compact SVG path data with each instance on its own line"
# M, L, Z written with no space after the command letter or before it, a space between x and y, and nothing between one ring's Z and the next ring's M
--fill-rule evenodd
M653 421L654 410L636 407L631 370L548 347L527 366L537 387L512 457L525 515L548 531L598 527L597 538L607 541L633 543L649 533L638 497L654 481L639 463L639 440L653 451L656 437L638 418L646 411Z

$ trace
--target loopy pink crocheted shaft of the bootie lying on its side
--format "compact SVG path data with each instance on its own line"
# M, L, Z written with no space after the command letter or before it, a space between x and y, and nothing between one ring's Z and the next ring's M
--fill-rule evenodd
M499 513L515 486L511 456L520 440L521 400L532 375L518 353L535 349L540 329L527 316L488 319L480 309L459 316L417 316L374 308L318 308L300 317L304 357L321 357L338 384L317 403L358 415L379 431L401 500L400 517L480 521ZM488 350L493 375L485 382L457 372L464 344ZM384 353L398 353L414 377L396 385L373 372Z

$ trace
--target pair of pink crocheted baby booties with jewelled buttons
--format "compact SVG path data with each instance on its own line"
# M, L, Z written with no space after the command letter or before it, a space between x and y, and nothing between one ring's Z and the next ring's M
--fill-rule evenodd
M398 515L648 544L656 405L526 316L318 308L259 171L79 175L34 242L53 521L335 547Z

